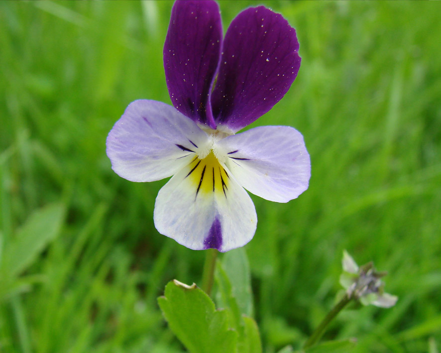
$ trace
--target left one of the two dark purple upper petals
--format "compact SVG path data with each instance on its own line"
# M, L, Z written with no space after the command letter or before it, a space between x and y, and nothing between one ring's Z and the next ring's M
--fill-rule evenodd
M164 44L164 69L174 107L216 128L208 98L218 66L222 24L215 1L176 1Z

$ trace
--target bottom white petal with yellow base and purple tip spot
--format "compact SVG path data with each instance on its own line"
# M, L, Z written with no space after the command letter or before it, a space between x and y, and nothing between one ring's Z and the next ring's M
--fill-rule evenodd
M254 235L253 202L213 154L178 172L159 191L153 215L159 233L194 250L228 251Z

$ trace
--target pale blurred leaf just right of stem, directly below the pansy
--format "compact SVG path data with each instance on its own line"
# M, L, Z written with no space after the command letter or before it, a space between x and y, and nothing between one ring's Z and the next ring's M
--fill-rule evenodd
M231 284L231 294L236 298L242 314L253 316L253 295L248 258L245 250L240 247L230 250L222 259L222 267Z

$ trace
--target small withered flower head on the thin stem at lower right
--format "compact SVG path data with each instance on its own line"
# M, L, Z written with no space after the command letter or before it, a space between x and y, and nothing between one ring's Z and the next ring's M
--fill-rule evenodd
M372 262L358 267L346 250L343 251L342 265L340 284L349 298L357 299L363 305L372 304L381 308L395 305L398 297L385 293L384 283L380 279L386 272L377 272Z

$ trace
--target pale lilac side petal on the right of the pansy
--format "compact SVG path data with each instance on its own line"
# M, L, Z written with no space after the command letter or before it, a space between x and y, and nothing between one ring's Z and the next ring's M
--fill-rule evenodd
M289 126L260 126L218 143L225 165L246 190L288 202L308 189L311 161L302 134Z

